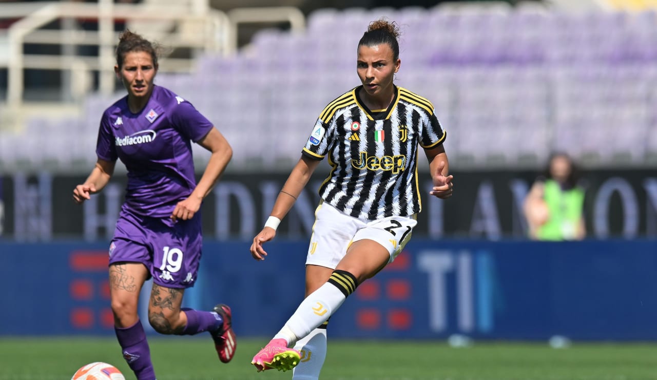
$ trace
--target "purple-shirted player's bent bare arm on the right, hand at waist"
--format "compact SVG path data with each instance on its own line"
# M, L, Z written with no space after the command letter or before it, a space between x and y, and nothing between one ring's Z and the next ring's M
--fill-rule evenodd
M208 165L194 191L187 199L176 204L173 213L171 213L171 219L173 220L193 218L194 214L200 209L201 202L210 193L217 179L219 179L219 176L221 176L233 157L231 145L217 128L212 128L205 137L198 141L198 145L208 149L212 152L212 155L210 155Z

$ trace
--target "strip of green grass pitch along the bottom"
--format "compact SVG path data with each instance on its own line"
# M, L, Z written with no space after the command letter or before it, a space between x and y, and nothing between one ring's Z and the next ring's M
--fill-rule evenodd
M256 373L252 356L266 339L240 339L233 362L216 358L209 338L150 339L159 380L290 379L287 373ZM59 380L89 362L109 362L127 379L132 372L110 338L0 338L0 380ZM478 343L451 348L429 341L330 342L323 380L657 380L656 344Z

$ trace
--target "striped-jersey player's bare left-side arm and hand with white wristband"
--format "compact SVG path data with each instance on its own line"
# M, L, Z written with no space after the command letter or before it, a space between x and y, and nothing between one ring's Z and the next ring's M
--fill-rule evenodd
M319 160L314 160L307 157L305 154L301 156L299 162L297 162L294 169L290 173L287 181L281 189L281 193L274 203L274 207L271 210L271 216L282 220L287 213L290 211L294 202L298 199L301 191L306 187L306 183L312 176L315 168L319 164ZM267 252L262 248L265 241L270 241L276 236L276 229L272 227L265 226L256 237L253 238L253 244L251 245L251 256L256 260L265 260Z

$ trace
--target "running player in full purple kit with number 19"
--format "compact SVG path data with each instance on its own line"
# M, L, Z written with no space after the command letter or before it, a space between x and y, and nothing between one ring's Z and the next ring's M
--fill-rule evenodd
M194 285L201 256L202 200L231 160L233 151L219 130L191 103L154 85L156 51L130 31L120 36L114 71L127 96L102 114L89 178L76 186L82 203L108 183L117 158L127 168L125 203L110 243L110 297L114 329L137 379L155 379L146 335L137 315L139 291L152 277L148 321L162 334L209 331L221 362L235 353L231 309L181 309L183 293ZM196 184L191 141L212 152Z

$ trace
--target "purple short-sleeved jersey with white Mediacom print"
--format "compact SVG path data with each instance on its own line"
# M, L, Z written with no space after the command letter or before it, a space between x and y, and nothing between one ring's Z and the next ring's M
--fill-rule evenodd
M124 208L164 218L196 187L191 142L213 128L191 103L154 85L146 107L130 112L127 96L102 114L96 154L127 168Z

